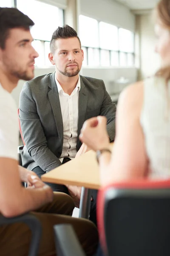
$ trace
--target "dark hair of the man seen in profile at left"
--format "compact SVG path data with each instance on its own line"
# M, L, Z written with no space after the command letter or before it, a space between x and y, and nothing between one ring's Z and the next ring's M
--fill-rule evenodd
M15 8L0 7L0 48L5 49L10 29L23 28L29 30L30 26L34 26L34 22L23 12Z

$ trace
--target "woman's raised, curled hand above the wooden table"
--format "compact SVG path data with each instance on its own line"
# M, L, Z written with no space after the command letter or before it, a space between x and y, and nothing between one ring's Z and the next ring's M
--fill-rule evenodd
M82 126L79 139L94 151L109 148L109 137L106 129L105 116L92 117Z

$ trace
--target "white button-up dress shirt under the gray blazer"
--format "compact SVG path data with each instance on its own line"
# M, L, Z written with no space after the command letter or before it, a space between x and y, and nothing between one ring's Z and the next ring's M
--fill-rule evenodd
M63 145L62 154L59 160L62 162L64 157L69 157L73 159L76 154L77 145L77 129L78 129L78 103L79 103L79 90L80 90L80 77L78 79L77 85L74 88L71 95L65 93L59 84L55 76L55 81L59 93L59 102L62 113L62 123L63 123Z

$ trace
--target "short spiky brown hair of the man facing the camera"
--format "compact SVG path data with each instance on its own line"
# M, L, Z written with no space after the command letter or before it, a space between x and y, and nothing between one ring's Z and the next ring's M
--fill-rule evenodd
M76 30L74 30L71 26L64 25L63 27L58 27L52 35L51 42L50 42L50 51L55 51L55 41L57 39L67 39L67 38L74 38L76 37L79 40L80 43L80 49L81 49L81 42L77 35Z

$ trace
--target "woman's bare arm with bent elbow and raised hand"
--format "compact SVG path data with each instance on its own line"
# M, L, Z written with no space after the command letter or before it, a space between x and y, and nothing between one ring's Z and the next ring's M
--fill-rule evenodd
M140 125L142 104L143 82L137 82L127 87L119 97L113 152L112 154L103 152L99 157L103 185L118 180L137 179L146 176L147 154L144 134ZM100 122L96 122L96 125L91 125L90 120L87 122L82 128L80 139L87 145L93 140L95 150L108 148L104 117L101 117ZM89 126L91 127L89 128ZM98 138L95 137L95 134ZM100 141L101 143L99 143Z

